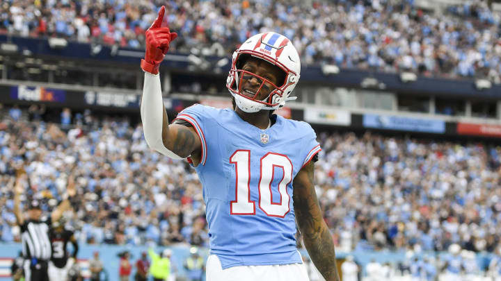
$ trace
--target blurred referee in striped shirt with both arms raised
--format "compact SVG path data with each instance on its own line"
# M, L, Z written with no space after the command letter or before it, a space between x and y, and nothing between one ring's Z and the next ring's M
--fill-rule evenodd
M51 215L42 220L42 209L40 201L30 201L27 219L24 219L20 196L24 191L22 178L25 174L18 174L14 189L14 214L17 224L21 228L22 253L24 256L24 280L26 281L49 281L47 268L51 258L51 243L49 240L49 229L52 221L58 221L67 209L70 208L68 200L75 194L74 184L67 186L65 199L56 207Z

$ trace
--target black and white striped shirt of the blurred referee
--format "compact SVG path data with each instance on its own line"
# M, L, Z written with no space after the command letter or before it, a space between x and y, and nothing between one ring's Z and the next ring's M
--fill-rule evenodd
M22 252L25 259L33 257L48 261L52 249L49 240L50 219L25 221L21 225Z

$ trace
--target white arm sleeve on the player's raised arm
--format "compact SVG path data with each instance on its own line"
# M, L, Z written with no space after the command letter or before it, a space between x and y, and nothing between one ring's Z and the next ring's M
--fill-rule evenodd
M160 76L145 71L143 97L141 98L141 121L146 143L150 148L173 159L182 159L164 146L162 129L164 123L164 100L161 96Z

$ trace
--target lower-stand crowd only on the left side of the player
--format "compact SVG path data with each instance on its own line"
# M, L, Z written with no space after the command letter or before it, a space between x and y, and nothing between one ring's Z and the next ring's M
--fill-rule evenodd
M150 151L141 126L125 119L98 122L68 109L56 126L40 121L44 112L36 105L34 110L10 108L6 115L0 125L0 241L19 239L12 191L15 170L24 168L31 187L24 199L42 199L45 208L61 198L67 174L77 177L82 200L67 220L81 242L207 244L195 171ZM32 122L19 121L24 115ZM69 128L70 122L77 126Z

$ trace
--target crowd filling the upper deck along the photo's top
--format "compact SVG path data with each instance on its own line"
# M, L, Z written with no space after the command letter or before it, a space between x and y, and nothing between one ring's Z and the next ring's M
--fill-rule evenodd
M413 0L8 0L0 6L0 33L143 49L144 32L165 4L170 29L180 35L172 51L228 56L250 35L276 31L292 39L305 65L500 83L501 17L486 2L434 14Z

